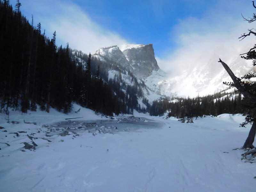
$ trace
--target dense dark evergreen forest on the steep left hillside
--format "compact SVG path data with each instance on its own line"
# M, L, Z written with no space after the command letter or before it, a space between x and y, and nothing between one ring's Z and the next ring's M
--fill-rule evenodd
M1 109L50 111L50 107L68 113L72 103L106 115L122 112L122 105L100 68L91 69L91 54L84 66L72 59L68 44L57 47L56 32L51 39L22 16L21 4L15 10L8 0L0 1L0 100ZM81 55L85 57L86 55ZM84 58L85 59L85 58Z

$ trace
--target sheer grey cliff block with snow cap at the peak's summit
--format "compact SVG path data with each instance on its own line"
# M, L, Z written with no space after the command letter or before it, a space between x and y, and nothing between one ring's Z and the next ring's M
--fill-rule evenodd
M153 70L159 69L152 44L124 45L122 48L126 59L133 68L133 73L137 77L148 77Z

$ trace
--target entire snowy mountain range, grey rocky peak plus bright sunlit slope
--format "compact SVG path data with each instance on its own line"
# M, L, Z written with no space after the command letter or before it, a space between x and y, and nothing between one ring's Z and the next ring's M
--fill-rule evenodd
M250 46L239 48L239 52L249 50ZM128 73L130 71L140 84L146 85L142 88L144 96L152 101L161 96L194 97L198 93L203 96L227 90L228 86L223 82L229 82L231 79L218 63L223 55L218 50L212 50L203 60L197 58L191 63L179 63L181 72L171 77L159 68L152 44L123 44L100 48L92 57L122 66L123 71L118 68L109 70L109 78L119 76L126 84L133 84L133 77ZM236 52L225 62L237 77L254 70L252 62L242 59Z

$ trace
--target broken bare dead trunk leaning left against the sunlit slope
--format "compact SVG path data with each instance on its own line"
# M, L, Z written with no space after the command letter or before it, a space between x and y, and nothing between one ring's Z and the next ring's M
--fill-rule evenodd
M244 95L244 97L247 97L252 102L256 103L256 97L244 89L244 87L241 85L241 79L237 78L235 74L232 72L232 70L228 67L228 65L224 63L222 60L219 60L218 62L220 62L222 66L225 68L225 70L228 72L228 75L234 82L234 87L236 87L236 89L240 91Z

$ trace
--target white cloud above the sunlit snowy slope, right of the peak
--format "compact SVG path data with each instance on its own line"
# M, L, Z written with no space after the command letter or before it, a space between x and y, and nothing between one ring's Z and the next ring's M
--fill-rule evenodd
M238 40L250 27L241 14L233 18L223 10L209 11L201 19L180 20L170 33L177 49L164 59L157 58L158 65L173 77L205 63L216 61L217 67L219 58L228 63L229 58L239 57L253 45L254 37Z

